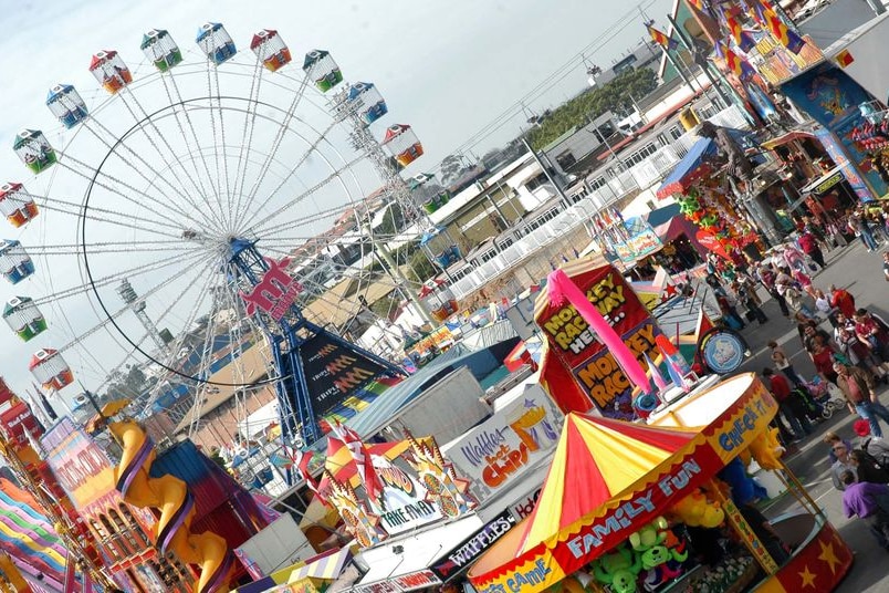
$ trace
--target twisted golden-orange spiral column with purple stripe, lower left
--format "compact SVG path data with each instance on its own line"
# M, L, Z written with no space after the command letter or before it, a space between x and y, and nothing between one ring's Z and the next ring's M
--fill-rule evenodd
M211 593L228 585L232 559L226 540L210 531L191 533L195 501L186 482L169 474L148 475L157 456L154 443L133 419L108 425L123 448L121 464L114 470L117 490L135 507L160 512L155 524L155 545L163 554L172 551L182 562L200 566L196 591Z

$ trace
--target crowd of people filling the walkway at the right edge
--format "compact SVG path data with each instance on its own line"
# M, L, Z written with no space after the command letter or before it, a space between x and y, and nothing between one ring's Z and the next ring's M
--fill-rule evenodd
M889 206L849 210L840 225L802 217L796 230L794 241L773 248L759 261L746 258L746 266L734 266L730 277L713 266L708 270L708 283L731 329L740 331L753 321L768 321L755 296L760 285L775 299L781 314L796 325L798 343L767 343L771 365L762 370L762 376L778 403L775 426L785 446L793 447L829 416L822 414L828 399L844 402L858 417L853 425L854 441L833 431L824 436L830 478L841 492L844 514L866 523L889 552L889 441L883 439L882 426L889 427L889 408L877 396L880 383L889 385L889 323L858 306L848 290L817 287L814 280L826 266L825 253L848 240L858 238L869 252L882 242L889 245ZM882 268L889 282L889 250L883 253ZM794 365L803 353L815 368L812 379ZM822 396L825 393L830 395Z

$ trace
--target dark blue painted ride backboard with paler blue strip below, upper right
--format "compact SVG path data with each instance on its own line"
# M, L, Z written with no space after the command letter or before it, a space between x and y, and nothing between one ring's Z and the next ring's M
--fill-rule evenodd
M871 165L874 157L881 158L881 149L870 154L853 139L855 128L868 123L859 106L874 101L860 84L827 62L785 82L781 90L829 131L816 133L816 136L862 201L889 191L887 179Z

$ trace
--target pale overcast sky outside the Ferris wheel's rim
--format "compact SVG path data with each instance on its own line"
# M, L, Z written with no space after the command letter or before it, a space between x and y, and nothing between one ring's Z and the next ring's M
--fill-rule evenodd
M646 11L662 23L670 4L669 0L646 0ZM585 85L586 73L575 56L603 34L609 35L608 43L587 53L603 67L646 35L638 12L620 29L616 21L631 7L605 0L0 0L0 10L4 24L0 38L4 86L0 94L0 146L6 147L0 150L0 180L25 184L28 171L11 144L22 127L57 127L44 105L46 91L57 83L71 83L88 102L98 94L87 71L92 54L118 50L125 61L138 63L143 60L142 34L154 28L167 29L185 48L192 46L201 23L221 22L239 51L249 51L255 31L276 29L290 45L294 62L300 62L297 67L306 51L328 50L346 80L377 84L389 104L388 123L410 124L419 135L426 156L414 173L436 170L441 158L529 93L534 96L527 107L536 112L576 94ZM568 62L573 65L546 82ZM481 156L510 139L524 118L521 114L513 117L472 152ZM49 227L44 236L50 240L51 235ZM20 231L0 221L0 238L19 237ZM40 273L51 274L52 270ZM0 280L0 299L7 301L14 294L39 298L29 291L39 292L41 285L45 283L23 283L13 289ZM52 329L53 320L49 322ZM22 344L7 327L0 331L0 375L13 389L31 384L27 370L30 353L53 345L52 340L64 343L71 339L52 334L41 337L40 344L33 343L36 340Z

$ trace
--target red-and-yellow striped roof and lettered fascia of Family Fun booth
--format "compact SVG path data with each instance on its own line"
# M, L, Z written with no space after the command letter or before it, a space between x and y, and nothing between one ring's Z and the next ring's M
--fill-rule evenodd
M568 414L532 514L469 571L481 593L557 583L694 492L762 435L777 404L753 375L701 427ZM502 587L502 589L501 589Z

